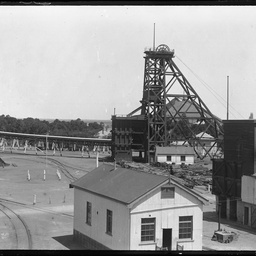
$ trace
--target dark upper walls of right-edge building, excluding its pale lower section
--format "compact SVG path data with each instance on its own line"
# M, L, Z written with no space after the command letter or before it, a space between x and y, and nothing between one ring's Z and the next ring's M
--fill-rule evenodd
M255 121L230 120L224 123L224 159L213 159L212 193L219 197L221 215L237 219L237 200L241 199L241 178L252 175L255 155Z

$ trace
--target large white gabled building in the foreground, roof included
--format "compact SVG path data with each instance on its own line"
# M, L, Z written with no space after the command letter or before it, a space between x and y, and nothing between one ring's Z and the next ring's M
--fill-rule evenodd
M202 250L206 200L172 178L103 164L71 187L87 249Z

